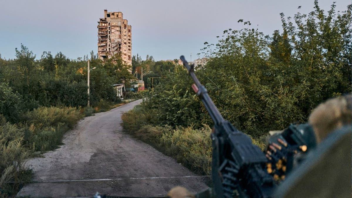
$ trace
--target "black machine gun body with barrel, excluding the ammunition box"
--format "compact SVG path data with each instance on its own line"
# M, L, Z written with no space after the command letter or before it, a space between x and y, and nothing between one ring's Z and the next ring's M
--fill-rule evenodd
M207 89L199 82L194 65L181 56L183 66L195 84L192 85L199 99L214 122L211 134L213 145L212 180L216 197L233 197L237 190L240 197L271 197L274 179L266 169L268 160L250 137L226 121L210 99Z

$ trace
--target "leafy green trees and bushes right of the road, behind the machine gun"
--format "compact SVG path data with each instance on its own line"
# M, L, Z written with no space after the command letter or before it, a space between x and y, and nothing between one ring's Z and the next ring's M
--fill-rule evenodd
M307 122L321 102L351 92L351 8L336 12L333 4L324 12L315 1L308 14L285 18L281 13L283 30L272 36L240 19L246 28L225 30L218 43L205 43L201 54L209 60L196 68L196 75L224 118L263 146L260 140L268 131ZM191 89L187 70L175 67L166 77L142 106L122 117L124 128L165 153L169 148L165 149L164 138L172 140L167 147L176 152L171 155L178 159L183 150L188 157L180 161L188 160L188 167L208 173L210 163L201 156L211 145L194 150L188 142L206 141L190 133L189 127L208 134L203 124L213 123ZM163 134L155 127L165 128Z

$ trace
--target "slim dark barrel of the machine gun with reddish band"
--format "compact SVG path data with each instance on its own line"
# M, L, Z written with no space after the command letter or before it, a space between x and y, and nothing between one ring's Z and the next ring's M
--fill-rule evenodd
M181 56L180 59L183 62L183 66L187 68L189 75L195 82L195 84L192 86L193 90L201 99L205 108L209 112L209 115L212 118L213 122L215 124L220 124L224 122L224 118L221 116L219 110L216 108L213 101L210 99L207 89L199 82L197 76L194 74L194 65L189 65L184 56Z

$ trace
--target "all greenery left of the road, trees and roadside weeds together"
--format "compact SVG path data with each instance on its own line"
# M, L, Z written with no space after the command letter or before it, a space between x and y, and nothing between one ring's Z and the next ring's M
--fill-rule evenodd
M0 197L13 197L31 180L23 162L57 148L66 131L92 115L87 100L87 60L43 52L39 60L24 45L16 58L0 56ZM109 109L118 100L113 84L133 76L121 59L99 60L91 52L90 102Z

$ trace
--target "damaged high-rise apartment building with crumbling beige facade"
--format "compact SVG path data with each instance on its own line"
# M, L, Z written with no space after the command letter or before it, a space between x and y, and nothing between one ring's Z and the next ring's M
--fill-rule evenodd
M121 55L124 63L132 66L131 25L122 16L122 12L104 10L104 18L98 21L98 56L104 59Z

